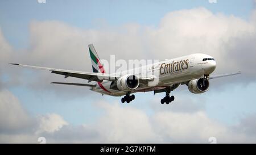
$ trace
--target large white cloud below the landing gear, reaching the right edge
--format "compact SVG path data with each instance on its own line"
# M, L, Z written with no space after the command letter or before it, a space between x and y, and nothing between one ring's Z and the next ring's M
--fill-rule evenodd
M256 141L256 135L251 132L218 123L208 118L204 111L154 111L148 115L143 110L123 107L119 103L101 102L98 107L104 109L104 114L94 124L61 128L49 138L55 143L58 140L59 143L208 143L209 137L216 137L218 143ZM241 124L245 124L243 120ZM250 124L246 124L246 128L254 129Z

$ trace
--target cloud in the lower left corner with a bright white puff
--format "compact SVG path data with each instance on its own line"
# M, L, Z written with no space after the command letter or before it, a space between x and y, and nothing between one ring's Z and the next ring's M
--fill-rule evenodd
M68 123L57 114L32 117L10 91L0 91L0 143L36 143L40 134L64 125Z

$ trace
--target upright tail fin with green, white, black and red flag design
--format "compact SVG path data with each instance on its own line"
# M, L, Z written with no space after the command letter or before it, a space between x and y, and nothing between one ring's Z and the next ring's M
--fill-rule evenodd
M92 68L94 73L105 73L104 66L102 66L100 57L98 57L98 54L93 47L93 44L89 44L89 52L90 52L90 59L92 61Z

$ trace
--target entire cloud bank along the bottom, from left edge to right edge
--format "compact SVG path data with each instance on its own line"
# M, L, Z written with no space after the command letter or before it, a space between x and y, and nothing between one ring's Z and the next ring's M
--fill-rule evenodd
M15 98L1 91L7 98ZM255 127L249 116L236 126L226 126L210 118L204 111L173 112L143 110L121 104L100 102L97 110L104 113L93 124L73 126L60 115L30 116L17 99L5 103L1 98L1 143L38 143L46 137L47 143L208 143L216 137L218 143L255 143ZM11 112L15 110L15 114ZM3 112L8 111L8 112ZM3 112L3 113L2 113ZM28 121L29 120L29 121Z

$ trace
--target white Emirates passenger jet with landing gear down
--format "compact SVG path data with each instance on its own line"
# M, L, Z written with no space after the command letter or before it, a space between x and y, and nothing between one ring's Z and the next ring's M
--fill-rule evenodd
M108 74L105 72L104 65L102 65L100 57L98 57L93 44L89 44L88 47L93 72L80 72L22 64L11 65L49 70L51 73L63 75L64 78L75 77L87 79L88 83L51 83L86 86L90 87L90 90L96 91L102 95L106 94L115 97L124 95L121 99L122 103L130 103L134 100L134 93L154 91L154 94L166 93L166 96L160 100L160 103L169 104L175 99L173 95L170 97L171 91L174 91L180 85L187 85L188 90L191 93L200 94L209 90L210 79L241 74L241 72L235 72L210 76L216 69L216 61L212 56L202 53L195 53L140 66L138 68L130 69L132 72L127 72L129 70L125 70L115 74ZM147 76L143 76L142 73L134 72L136 70L143 70L148 74Z

